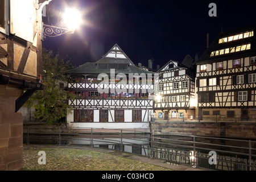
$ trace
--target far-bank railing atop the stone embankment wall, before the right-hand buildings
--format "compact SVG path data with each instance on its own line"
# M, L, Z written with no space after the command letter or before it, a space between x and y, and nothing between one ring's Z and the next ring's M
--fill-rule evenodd
M256 122L256 115L151 115L151 122Z

